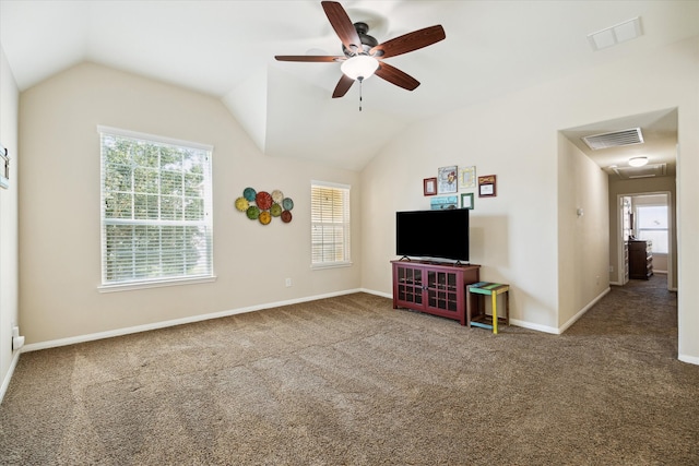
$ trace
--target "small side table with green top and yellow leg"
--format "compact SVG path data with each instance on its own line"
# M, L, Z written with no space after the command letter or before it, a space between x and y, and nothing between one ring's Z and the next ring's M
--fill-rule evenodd
M498 322L510 324L510 286L502 283L478 282L466 285L466 325L479 326L498 333ZM505 295L505 315L498 314L498 295ZM485 302L478 299L481 296L490 297L493 315L485 313Z

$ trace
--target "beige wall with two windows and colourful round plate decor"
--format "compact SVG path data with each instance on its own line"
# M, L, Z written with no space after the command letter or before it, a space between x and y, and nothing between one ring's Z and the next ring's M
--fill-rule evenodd
M356 289L359 266L310 270L310 180L352 186L356 172L266 157L224 104L84 63L21 95L20 307L28 344L70 339ZM99 139L108 126L214 146L215 283L100 294ZM234 207L246 187L280 189L289 224L262 226ZM353 213L355 258L362 217ZM293 280L285 286L285 278Z

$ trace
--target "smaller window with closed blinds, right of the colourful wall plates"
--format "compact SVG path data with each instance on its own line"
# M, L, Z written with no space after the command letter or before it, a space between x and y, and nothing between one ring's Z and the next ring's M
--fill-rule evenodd
M350 265L350 187L313 181L310 215L311 265Z

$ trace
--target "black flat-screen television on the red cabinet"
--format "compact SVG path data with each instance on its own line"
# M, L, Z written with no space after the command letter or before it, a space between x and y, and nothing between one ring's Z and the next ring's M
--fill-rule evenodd
M469 262L469 210L396 212L395 254Z

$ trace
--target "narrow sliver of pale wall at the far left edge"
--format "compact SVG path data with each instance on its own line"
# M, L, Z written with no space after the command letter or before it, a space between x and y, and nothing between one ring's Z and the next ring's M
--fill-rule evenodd
M12 351L12 324L17 306L17 112L20 92L0 45L0 144L11 157L10 188L0 188L0 401L10 383L17 351Z

